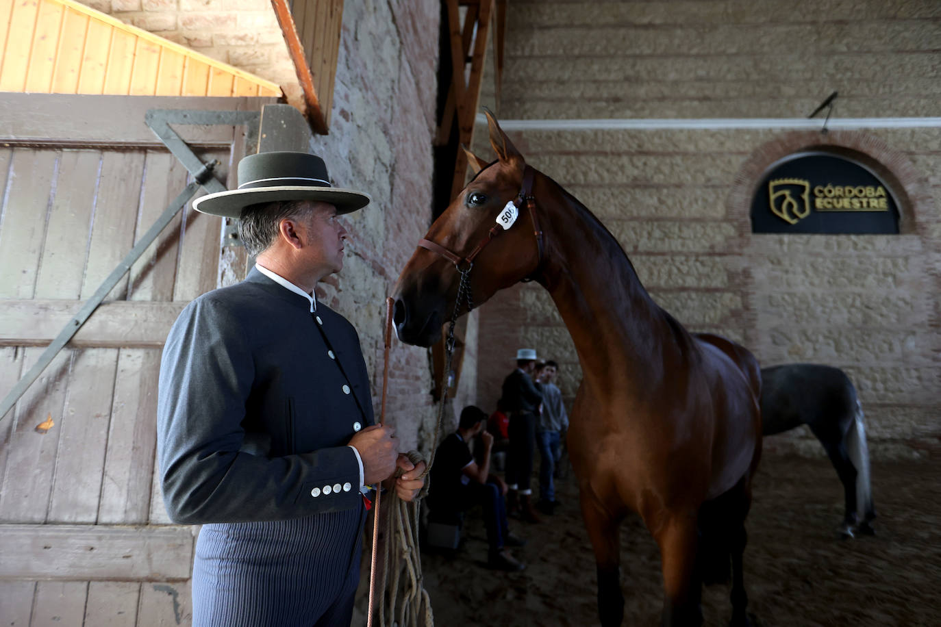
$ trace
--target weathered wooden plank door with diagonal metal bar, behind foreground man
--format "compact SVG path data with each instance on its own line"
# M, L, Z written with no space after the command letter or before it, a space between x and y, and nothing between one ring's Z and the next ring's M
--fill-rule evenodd
M155 137L63 147L20 128L30 144L0 137L0 396L189 180ZM226 180L242 130L221 146L218 127L202 135ZM188 624L194 528L170 524L160 497L156 386L169 325L216 287L220 229L187 204L0 420L6 624Z

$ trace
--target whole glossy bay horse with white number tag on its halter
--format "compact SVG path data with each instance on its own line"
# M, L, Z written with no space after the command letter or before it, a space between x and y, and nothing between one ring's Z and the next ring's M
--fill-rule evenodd
M702 584L727 582L730 570L732 624L748 624L742 555L761 449L758 363L657 306L614 236L486 118L498 159L487 165L468 150L476 176L396 284L398 337L430 346L449 316L520 280L549 290L582 365L567 447L601 624L623 619L618 528L630 510L660 547L663 624L701 624Z

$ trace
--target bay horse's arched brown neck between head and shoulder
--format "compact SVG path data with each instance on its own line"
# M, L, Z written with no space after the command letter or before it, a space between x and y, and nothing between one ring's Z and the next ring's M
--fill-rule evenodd
M538 205L549 246L540 282L566 323L586 383L659 385L665 357L689 336L653 302L620 244L578 200L563 193Z

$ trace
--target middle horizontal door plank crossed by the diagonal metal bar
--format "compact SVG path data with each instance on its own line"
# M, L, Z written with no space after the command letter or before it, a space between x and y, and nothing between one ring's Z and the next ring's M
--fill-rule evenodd
M85 301L0 300L0 346L45 346ZM99 306L72 348L161 348L184 302L115 301Z

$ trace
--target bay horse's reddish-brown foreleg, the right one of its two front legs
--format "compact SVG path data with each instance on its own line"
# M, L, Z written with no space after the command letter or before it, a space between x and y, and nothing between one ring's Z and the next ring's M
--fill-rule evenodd
M654 538L660 545L663 571L662 625L701 625L702 585L696 572L696 512L670 515Z

